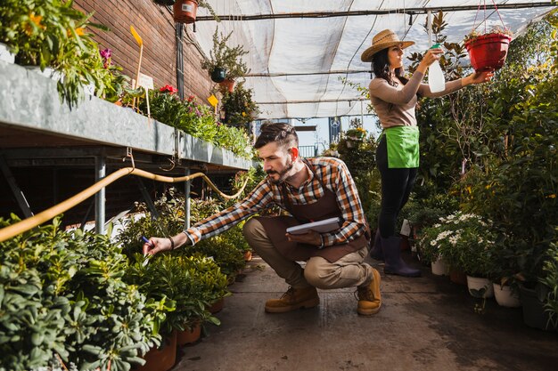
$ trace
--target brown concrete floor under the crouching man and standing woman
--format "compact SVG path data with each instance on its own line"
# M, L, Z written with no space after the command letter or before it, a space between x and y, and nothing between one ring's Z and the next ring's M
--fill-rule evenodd
M267 314L266 300L287 286L256 256L229 287L221 326L182 348L172 371L558 370L558 333L525 326L521 308L494 299L476 314L466 286L422 268L422 278L382 273L383 306L371 318L357 315L354 288L320 290L314 309Z

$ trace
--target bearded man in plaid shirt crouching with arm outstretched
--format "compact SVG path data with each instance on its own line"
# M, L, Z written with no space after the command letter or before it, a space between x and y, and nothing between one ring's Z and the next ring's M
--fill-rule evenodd
M263 124L254 147L267 177L248 197L176 236L150 238L144 244L144 254L193 245L259 211L279 206L289 215L256 216L243 229L252 249L290 286L281 298L266 302L266 311L313 308L320 302L316 287L350 286L357 286L358 314L369 316L380 311L381 277L364 262L370 233L347 165L338 158L300 157L298 135L285 123ZM332 217L341 220L336 230L286 232L288 227Z

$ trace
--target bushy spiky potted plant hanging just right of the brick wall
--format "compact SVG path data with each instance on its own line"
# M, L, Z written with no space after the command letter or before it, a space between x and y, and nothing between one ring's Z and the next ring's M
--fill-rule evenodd
M248 52L244 51L242 45L231 48L226 44L232 35L233 31L225 36L216 28L213 34L213 48L209 51L209 60L201 62L201 69L207 69L209 77L214 82L226 85L228 92L233 91L230 85L234 87L234 78L243 77L248 73L248 68L241 58Z

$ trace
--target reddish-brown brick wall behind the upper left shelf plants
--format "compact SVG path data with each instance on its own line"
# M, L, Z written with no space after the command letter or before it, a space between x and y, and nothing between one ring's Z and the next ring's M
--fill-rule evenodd
M130 33L133 25L144 40L141 72L153 77L155 86L176 87L176 34L172 8L154 4L152 0L75 0L74 6L84 12L94 12L91 19L111 31L90 29L101 49L110 48L112 60L123 68L123 73L135 78L139 60L139 46ZM192 38L192 25L185 26L185 33ZM201 53L183 37L185 96L195 95L208 104L213 83L207 71L201 69Z

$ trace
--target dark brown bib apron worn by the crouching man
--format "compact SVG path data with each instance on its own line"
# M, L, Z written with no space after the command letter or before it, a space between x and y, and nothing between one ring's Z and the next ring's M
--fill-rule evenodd
M312 165L308 164L308 169L314 173ZM306 205L292 205L291 199L287 195L287 189L284 182L280 185L281 193L285 208L292 216L257 216L258 222L261 222L266 230L267 237L283 256L292 261L306 261L312 256L322 256L328 262L337 262L341 257L346 254L354 253L361 248L367 246L370 240L368 230L365 235L351 240L349 243L342 245L326 246L323 249L318 249L317 246L308 244L298 244L290 242L286 236L286 229L295 225L300 225L306 222L316 222L332 217L342 217L341 210L337 205L335 193L328 190L324 183L320 181L324 189L324 196L319 198L313 204Z

